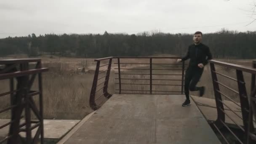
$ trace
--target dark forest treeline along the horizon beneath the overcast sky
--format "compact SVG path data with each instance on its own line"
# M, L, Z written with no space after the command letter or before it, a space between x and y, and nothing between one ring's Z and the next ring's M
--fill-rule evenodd
M168 53L183 56L192 44L192 34L142 32L139 34L35 34L0 39L0 56L52 54L77 57L149 56ZM256 58L256 31L237 32L221 29L203 35L214 58Z

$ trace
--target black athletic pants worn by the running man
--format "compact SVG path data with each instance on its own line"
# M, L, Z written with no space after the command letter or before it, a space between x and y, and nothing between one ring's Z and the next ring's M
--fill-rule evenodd
M196 87L200 77L203 74L203 68L200 67L188 67L185 75L185 95L189 100L189 91L199 91L200 87Z

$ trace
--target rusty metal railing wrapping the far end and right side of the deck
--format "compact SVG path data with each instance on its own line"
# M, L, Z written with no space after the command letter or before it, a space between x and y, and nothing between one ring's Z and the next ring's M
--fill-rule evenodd
M97 65L96 65L96 71L95 71L95 75L94 75L94 80L93 80L93 86L92 86L92 90L91 90L91 96L90 96L90 106L91 108L98 109L100 107L100 104L97 104L97 100L99 100L99 97L95 98L95 94L99 91L101 91L101 95L100 96L105 96L105 98L110 98L112 96L112 94L108 93L108 82L109 82L109 75L110 75L110 70L112 68L111 63L112 63L112 59L115 59L117 62L114 64L117 64L117 68L114 68L117 72L115 72L115 75L117 75L117 78L115 78L115 80L117 80L118 82L116 82L115 84L117 85L118 89L115 89L115 93L119 93L119 94L125 94L127 92L123 92L123 91L135 91L134 93L131 94L163 94L163 93L159 93L159 92L167 92L165 94L183 94L184 93L184 72L185 72L185 63L182 62L181 64L177 64L177 63L154 63L153 59L179 59L179 57L108 57L108 58L103 58L103 59L96 59L95 61L97 61ZM121 59L124 59L125 62L121 62ZM131 61L129 61L129 59L146 59L147 62L144 63L137 63L137 61L135 63L132 63ZM100 66L100 62L104 61L104 60L109 60L108 64L104 64L103 66ZM221 136L223 136L223 139L227 142L227 144L229 144L229 141L226 139L225 134L223 134L222 128L226 128L227 131L229 131L234 137L235 139L241 143L241 144L253 144L256 141L256 131L255 131L255 125L253 124L254 119L256 117L256 86L255 86L255 75L256 75L256 61L253 61L253 68L251 67L244 67L241 65L237 65L237 64L230 64L230 63L226 63L226 62L222 62L222 61L216 61L216 60L210 60L210 67L211 67L211 75L212 75L212 81L213 81L213 88L214 88L214 95L215 95L215 101L216 101L216 108L217 108L217 120L212 123L213 128L216 128L216 130L220 133ZM143 66L148 66L147 68L145 67L131 67L131 68L127 68L127 67L122 67L122 65L143 65ZM173 68L168 68L168 69L162 69L162 68L154 68L154 65L180 65L182 68L178 68L178 69L173 69ZM229 75L225 75L222 74L221 72L217 72L215 69L215 66L221 66L221 67L225 67L225 68L229 68L229 69L235 69L236 72L236 78L231 77ZM104 67L104 66L108 66L107 70L99 72L99 68L100 67ZM122 72L123 70L123 72ZM126 70L126 72L124 72ZM127 71L128 70L128 71ZM129 71L131 70L137 70L137 71L141 71L141 72L147 72L147 73L130 73ZM175 73L175 74L164 74L164 73L154 73L154 70L161 70L165 71L168 70L169 72L174 72L174 71L180 71L179 73ZM102 88L99 88L98 91L96 91L96 89L98 88L99 85L97 85L98 82L98 76L100 73L106 72L107 74L104 75L102 78L105 78L105 81L102 82L102 84L104 83L104 86ZM243 72L247 72L250 73L251 76L251 96L248 96L247 92L246 92L246 86L245 86L245 80L243 77ZM122 76L125 75L146 75L149 76L148 78L124 78ZM159 75L159 76L166 76L166 75L177 75L177 76L181 76L180 79L157 79L154 78L154 75ZM220 81L218 81L217 79L217 75L225 77L229 80L235 81L237 83L237 89L235 90L233 88L230 88L229 86L225 85L224 83L221 83ZM125 80L131 80L130 83L125 83ZM134 83L134 81L136 80L144 80L147 81L147 83ZM154 80L158 80L159 83L154 83ZM168 82L179 82L179 84L162 84L163 81L168 81ZM137 90L137 89L126 89L126 85L144 85L147 86L147 90ZM153 86L155 85L159 85L159 86L179 86L180 91L159 91L159 90L154 90ZM230 98L229 96L227 96L227 94L225 94L223 91L220 90L220 86L223 88L227 88L227 90L232 91L233 93L237 94L239 96L239 100L240 100L240 104L237 103L236 101L234 101L232 98ZM125 88L123 88L125 87ZM143 92L143 93L138 93L137 91ZM154 93L154 92L158 92L158 93ZM170 92L174 92L174 93L170 93ZM130 94L130 93L128 93ZM239 114L237 114L234 110L232 110L229 106L229 104L227 104L225 101L222 100L222 96L225 97L225 99L228 99L229 101L232 101L235 105L237 105L237 107L241 108L241 112L242 115L240 116ZM249 100L250 100L250 105L249 105ZM224 110L224 106L226 107L225 109L230 110L231 112L233 112L237 117L239 117L242 121L243 121L243 125L240 125L235 119L233 119L225 110ZM229 128L229 126L225 123L225 117L229 117L230 120L232 120L234 122L235 125L237 125L237 128L239 128L242 133L243 133L243 139L239 138L239 136L237 136L231 128Z

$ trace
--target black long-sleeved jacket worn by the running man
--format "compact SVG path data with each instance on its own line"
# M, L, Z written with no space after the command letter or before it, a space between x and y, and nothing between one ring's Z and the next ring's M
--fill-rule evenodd
M182 58L182 61L189 61L189 67L198 67L197 65L202 63L204 66L208 64L208 60L212 59L212 54L207 45L200 43L198 45L189 45L186 56Z

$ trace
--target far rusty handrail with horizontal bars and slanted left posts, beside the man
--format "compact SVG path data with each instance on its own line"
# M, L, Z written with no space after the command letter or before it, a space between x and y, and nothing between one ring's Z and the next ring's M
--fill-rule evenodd
M114 84L118 84L119 85L119 89L116 89L116 91L119 91L117 93L122 93L122 91L125 91L125 89L122 89L121 88L121 85L125 84L127 85L128 83L121 83L122 80L148 80L149 81L149 92L150 94L157 94L157 93L152 93L152 92L171 92L171 91L153 91L152 89L152 86L157 86L157 84L154 84L152 83L153 81L156 81L156 80L159 80L159 81L166 81L168 80L169 82L170 81L181 81L179 84L165 84L165 86L179 86L181 87L181 91L175 91L176 93L177 92L180 92L181 94L184 93L184 71L186 70L184 68L184 65L185 63L182 62L180 63L179 65L182 65L182 69L173 69L173 70L182 70L181 74L182 75L179 75L181 76L181 78L178 80L178 79L158 79L158 78L154 78L152 77L153 75L157 75L157 74L154 74L154 70L172 70L172 69L155 69L155 68L152 68L152 65L155 65L155 63L152 63L152 59L180 59L180 57L128 57L128 56L121 56L121 57L118 57L118 56L115 56L115 57L106 57L106 58L101 58L101 59L95 59L94 61L97 62L96 64L96 69L95 69L95 74L94 74L94 78L93 78L93 85L92 85L92 88L91 88L91 94L90 94L90 107L92 109L98 109L100 107L99 104L97 104L97 101L96 100L99 100L99 97L97 98L96 97L96 92L101 92L101 90L103 89L103 94L106 98L110 98L112 96L112 94L109 94L107 93L107 88L108 88L108 80L109 80L109 75L110 75L110 70L111 70L111 64L112 64L112 59L117 59L117 63L114 63L114 64L117 64L118 68L114 68L114 69L118 69L118 73L115 73L115 75L117 74L118 75L118 78L114 78L118 80L118 83L114 83ZM123 78L121 77L121 75L126 75L125 73L121 73L120 72L120 69L127 69L127 68L123 68L122 64L125 64L125 63L120 63L120 59L148 59L149 62L147 63L147 65L149 65L149 68L148 69L144 69L144 70L149 70L149 72L147 74L131 74L129 73L128 75L149 75L149 78ZM104 64L104 65L101 65L101 61L104 61L104 60L109 60L109 63L108 64ZM129 63L129 64L141 64L141 63ZM161 63L157 63L157 65L160 65ZM163 63L163 64L172 64L172 63ZM102 75L100 76L99 78L99 74L101 74L102 72L99 72L99 69L103 66L107 66L108 65L108 69L105 70L107 71L107 74L106 75ZM133 69L135 70L135 69ZM159 75L165 75L165 74L159 74ZM170 75L170 74L166 74L167 76L173 76L173 75L177 75L177 74L173 74L173 75ZM101 80L102 78L105 77L105 81L104 82L99 82L101 84L104 83L104 87L103 88L98 88L97 89L97 83L99 80ZM133 83L131 83L133 84ZM163 84L162 84L163 85ZM97 89L97 90L96 90ZM134 91L137 91L137 90L134 90ZM146 90L141 90L141 91L146 91ZM174 91L173 91L174 92ZM97 93L98 94L98 93ZM165 93L159 93L159 94L165 94ZM170 94L170 93L166 93L166 94ZM101 95L102 96L102 95Z

